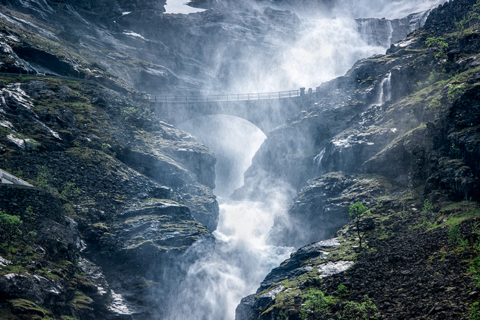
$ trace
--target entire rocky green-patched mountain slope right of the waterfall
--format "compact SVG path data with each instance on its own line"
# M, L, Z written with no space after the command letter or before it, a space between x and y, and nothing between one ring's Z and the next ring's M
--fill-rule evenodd
M301 188L269 234L301 248L237 320L478 319L479 8L433 10L267 138L237 195L265 196L259 172Z

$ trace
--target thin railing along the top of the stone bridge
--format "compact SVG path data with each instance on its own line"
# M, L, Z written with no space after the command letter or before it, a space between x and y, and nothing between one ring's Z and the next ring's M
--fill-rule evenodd
M288 90L274 93L235 93L228 95L147 95L143 97L156 102L223 102L223 101L249 101L300 97L302 90Z

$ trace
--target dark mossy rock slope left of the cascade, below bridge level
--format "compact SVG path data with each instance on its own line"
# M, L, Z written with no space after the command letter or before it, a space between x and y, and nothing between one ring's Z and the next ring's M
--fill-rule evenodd
M141 101L96 84L8 77L2 83L0 165L56 196L43 191L43 199L51 201L41 210L51 210L51 220L45 224L34 216L40 230L29 240L40 241L45 250L49 245L42 255L52 267L33 264L29 273L22 269L29 262L11 260L12 271L3 275L8 293L0 303L25 299L56 317L77 319L161 317L154 311L162 304L157 296L175 285L164 273L186 272L181 270L195 256L185 252L194 243L204 250L213 246L207 229L215 230L219 213L212 193L213 154ZM0 210L23 220L25 210L36 212L43 203L30 195L1 199ZM53 239L64 247L50 245ZM10 260L6 242L1 250ZM19 254L34 253L19 249ZM59 258L68 267L59 267L67 268L61 281L41 273L53 272ZM45 294L33 299L36 293L28 288ZM53 291L59 298L49 295ZM21 313L16 306L9 310Z

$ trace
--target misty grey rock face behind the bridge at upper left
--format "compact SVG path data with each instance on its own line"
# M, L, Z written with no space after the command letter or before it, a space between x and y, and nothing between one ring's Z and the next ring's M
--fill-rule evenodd
M245 75L253 55L272 57L276 43L291 39L300 23L285 10L232 1L213 1L209 10L189 15L163 14L165 1L14 0L3 5L8 27L32 33L27 40L4 39L10 40L2 46L10 63L3 72L89 74L108 86L127 84L149 93L217 93ZM22 14L34 22L25 22ZM271 60L265 59L271 62L265 70L275 65Z

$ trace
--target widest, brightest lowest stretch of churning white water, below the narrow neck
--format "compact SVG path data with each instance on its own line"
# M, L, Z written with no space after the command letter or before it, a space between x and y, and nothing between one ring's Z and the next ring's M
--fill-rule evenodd
M219 198L219 204L215 251L189 267L178 294L168 304L166 319L235 319L241 298L254 292L293 250L265 245L265 235L280 208L226 198Z

